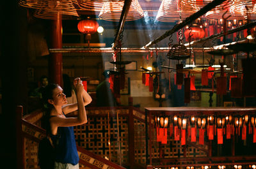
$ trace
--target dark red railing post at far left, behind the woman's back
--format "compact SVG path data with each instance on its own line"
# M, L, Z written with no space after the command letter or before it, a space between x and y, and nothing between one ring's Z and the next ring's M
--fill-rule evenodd
M16 108L16 145L17 145L17 168L25 169L25 145L24 137L22 136L22 115L23 107L17 106Z

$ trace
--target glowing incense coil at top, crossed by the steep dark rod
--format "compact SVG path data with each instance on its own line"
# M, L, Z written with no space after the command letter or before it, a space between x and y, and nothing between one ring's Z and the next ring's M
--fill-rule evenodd
M104 2L100 10L99 18L102 18L103 20L119 22L123 7L124 1ZM127 13L126 21L138 20L142 17L144 17L144 13L138 0L132 0L131 6Z

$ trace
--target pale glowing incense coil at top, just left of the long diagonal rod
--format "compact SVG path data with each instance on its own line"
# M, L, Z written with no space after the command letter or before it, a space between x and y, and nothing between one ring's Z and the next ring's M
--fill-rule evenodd
M157 11L156 19L161 22L176 22L180 18L189 17L192 13L188 11L180 11L178 0L163 0L159 10Z

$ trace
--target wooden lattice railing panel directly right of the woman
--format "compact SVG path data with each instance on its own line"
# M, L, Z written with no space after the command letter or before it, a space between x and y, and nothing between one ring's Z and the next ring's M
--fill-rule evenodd
M109 110L92 110L88 111L88 122L83 126L75 126L74 132L76 142L79 146L84 147L88 151L103 157L109 158L108 145L108 111ZM111 114L126 113L127 110L111 110ZM90 114L100 114L102 117L90 116ZM122 163L128 163L128 117L119 116L119 131L120 131L120 149ZM118 130L115 117L109 117L110 124L110 143L111 143L111 161L119 163L118 154Z

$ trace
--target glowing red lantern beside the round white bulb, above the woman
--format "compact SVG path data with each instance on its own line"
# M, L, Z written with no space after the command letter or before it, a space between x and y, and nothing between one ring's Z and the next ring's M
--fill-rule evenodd
M79 32L81 32L83 34L96 33L98 27L99 27L99 24L95 20L81 20L77 24L77 28L78 28Z

